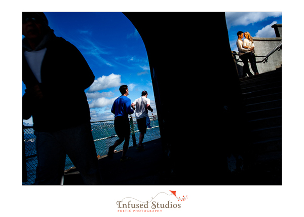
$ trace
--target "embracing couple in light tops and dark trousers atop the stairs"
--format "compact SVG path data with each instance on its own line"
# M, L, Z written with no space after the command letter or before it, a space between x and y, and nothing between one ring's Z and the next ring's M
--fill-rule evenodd
M245 33L242 31L238 31L237 35L238 35L237 47L239 49L239 56L244 63L242 78L246 77L246 74L248 76L253 76L249 70L248 60L250 61L250 65L254 72L254 75L258 75L259 73L256 67L256 60L254 55L254 44L251 35L249 34L248 31L246 31ZM245 39L243 42L242 39L244 36Z

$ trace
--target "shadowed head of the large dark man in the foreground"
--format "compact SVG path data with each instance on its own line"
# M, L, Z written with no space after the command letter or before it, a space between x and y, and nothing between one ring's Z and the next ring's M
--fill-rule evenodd
M50 29L49 22L43 12L22 13L22 34L27 40L40 42Z

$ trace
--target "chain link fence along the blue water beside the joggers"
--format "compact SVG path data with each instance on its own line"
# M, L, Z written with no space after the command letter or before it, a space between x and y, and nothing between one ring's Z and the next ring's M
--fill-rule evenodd
M131 136L129 147L136 146L139 141L139 130L137 121L130 116ZM147 127L147 132L144 136L143 142L152 141L161 137L158 116L149 116L150 124ZM92 135L95 142L97 152L96 157L107 155L108 149L118 139L115 129L114 120L91 122ZM36 167L37 167L37 154L35 148L35 135L32 127L23 127L24 147L25 147L25 160L26 160L26 173L27 182L22 182L22 185L32 185L35 182ZM117 148L117 151L123 150L123 143ZM65 170L73 167L73 163L66 156Z

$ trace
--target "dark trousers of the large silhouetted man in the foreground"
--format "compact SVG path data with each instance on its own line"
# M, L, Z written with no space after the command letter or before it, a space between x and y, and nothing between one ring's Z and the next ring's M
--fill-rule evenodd
M66 155L79 170L85 185L102 185L90 122L34 134L38 159L35 185L60 185Z

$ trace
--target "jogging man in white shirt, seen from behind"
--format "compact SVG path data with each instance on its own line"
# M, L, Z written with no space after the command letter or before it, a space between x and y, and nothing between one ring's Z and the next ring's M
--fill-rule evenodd
M148 110L153 112L153 108L150 106L150 99L147 98L148 93L147 91L141 92L141 97L135 99L134 102L131 104L133 110L135 110L135 117L137 120L137 126L139 129L139 142L138 142L138 150L144 150L142 146L142 141L144 138L144 134L147 131L146 119L148 117Z

